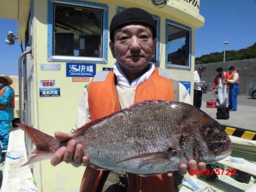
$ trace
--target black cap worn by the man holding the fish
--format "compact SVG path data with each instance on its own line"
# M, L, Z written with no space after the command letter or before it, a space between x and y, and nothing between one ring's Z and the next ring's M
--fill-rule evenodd
M114 32L119 27L126 26L128 24L146 24L152 28L153 39L156 37L155 20L152 15L142 9L131 7L114 15L110 23L110 40L114 41Z

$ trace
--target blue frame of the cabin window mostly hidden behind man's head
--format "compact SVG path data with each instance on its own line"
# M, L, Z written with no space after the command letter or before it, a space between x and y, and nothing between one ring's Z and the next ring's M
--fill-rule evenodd
M120 11L123 11L127 9L126 7L117 7L117 13L120 12ZM150 13L151 14L151 13ZM156 20L156 58L155 58L155 61L156 62L151 62L152 64L154 64L155 66L159 66L160 65L160 16L157 16L157 15L153 15L151 14L152 17Z

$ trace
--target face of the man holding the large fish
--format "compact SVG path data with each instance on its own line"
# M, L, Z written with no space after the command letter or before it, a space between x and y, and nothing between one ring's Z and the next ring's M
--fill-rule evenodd
M156 45L150 27L131 24L115 30L109 46L125 73L142 72L148 67Z

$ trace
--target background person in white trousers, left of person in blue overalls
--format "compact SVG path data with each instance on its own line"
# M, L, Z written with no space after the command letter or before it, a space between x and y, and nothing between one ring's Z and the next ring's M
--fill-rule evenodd
M228 100L228 94L226 93L226 84L224 82L225 78L228 78L229 74L223 72L222 68L217 68L216 72L217 76L214 78L214 82L212 85L212 90L216 89L218 92L218 102L220 106L226 107L226 103Z

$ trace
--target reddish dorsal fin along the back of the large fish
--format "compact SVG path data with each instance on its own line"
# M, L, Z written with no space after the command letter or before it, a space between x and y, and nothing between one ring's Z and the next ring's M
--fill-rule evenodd
M108 119L108 118L110 118L111 116L113 116L113 115L115 115L115 114L119 114L119 113L121 113L121 112L130 110L131 108L139 107L139 106L141 106L141 105L147 105L147 104L150 104L150 103L159 103L159 102L167 102L167 101L164 101L164 100L145 100L145 101L136 103L136 104L134 104L134 105L131 105L130 107L123 108L122 110L119 110L119 111L117 111L117 112L113 112L113 114L104 116L103 118L93 120L92 122L86 123L86 124L84 124L84 126L82 126L82 127L78 128L77 130L75 130L75 131L72 133L72 134L73 134L72 138L74 138L74 137L76 137L76 136L79 136L79 135L82 135L82 133L84 133L86 130L88 130L88 128L92 127L94 124L100 123L100 122L102 122L103 120Z

